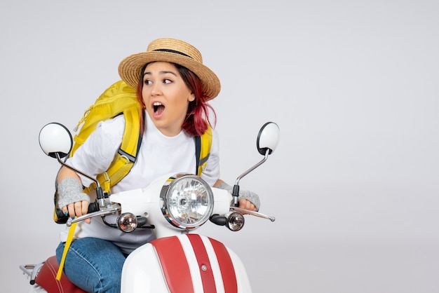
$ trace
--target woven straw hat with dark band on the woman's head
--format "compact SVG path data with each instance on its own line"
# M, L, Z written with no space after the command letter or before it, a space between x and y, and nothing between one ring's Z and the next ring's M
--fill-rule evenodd
M198 76L205 95L213 99L221 90L217 75L203 64L200 51L189 43L177 39L156 39L149 43L146 52L130 55L119 64L119 75L133 88L137 88L144 64L154 61L173 62L191 70Z

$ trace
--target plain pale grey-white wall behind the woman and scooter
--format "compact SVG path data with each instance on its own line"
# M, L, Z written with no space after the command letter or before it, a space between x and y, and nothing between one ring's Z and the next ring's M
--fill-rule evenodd
M1 292L27 291L18 266L53 254L62 229L40 128L74 128L119 61L163 36L222 81L224 179L259 161L264 122L281 128L241 180L276 222L203 227L254 292L439 292L438 28L433 0L1 1Z

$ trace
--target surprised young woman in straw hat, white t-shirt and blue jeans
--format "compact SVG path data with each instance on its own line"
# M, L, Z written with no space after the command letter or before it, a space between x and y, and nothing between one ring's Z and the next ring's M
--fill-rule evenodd
M122 60L119 75L129 86L137 88L146 115L141 121L144 135L137 161L128 175L112 187L112 192L143 188L170 172L193 173L196 166L193 137L207 129L209 109L215 116L208 101L221 88L216 74L203 64L201 53L184 41L156 39L146 52ZM102 121L67 163L89 175L105 172L119 149L124 128L123 115ZM210 156L201 177L210 186L231 191L231 186L219 179L218 145L217 132L212 130ZM83 193L83 186L90 183L68 168L60 170L58 206L65 214L71 217L86 214L90 197ZM259 210L255 193L241 191L239 199L240 207ZM67 231L60 238L58 262ZM98 219L81 222L67 253L64 272L87 292L119 292L126 256L153 239L151 231L123 233Z

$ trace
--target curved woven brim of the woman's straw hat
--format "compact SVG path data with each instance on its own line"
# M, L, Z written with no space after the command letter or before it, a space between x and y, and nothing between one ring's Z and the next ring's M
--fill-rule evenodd
M219 90L221 90L218 76L212 70L200 62L196 62L191 57L177 53L142 52L130 55L119 64L119 75L129 86L137 88L144 64L156 61L180 64L194 72L201 80L203 93L209 97L209 100L217 97Z

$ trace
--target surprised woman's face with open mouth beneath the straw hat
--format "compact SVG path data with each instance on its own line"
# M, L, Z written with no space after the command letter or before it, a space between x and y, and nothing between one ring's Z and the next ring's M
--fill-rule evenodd
M195 99L177 68L169 62L152 62L143 72L142 98L151 120L163 135L182 130L189 102Z

